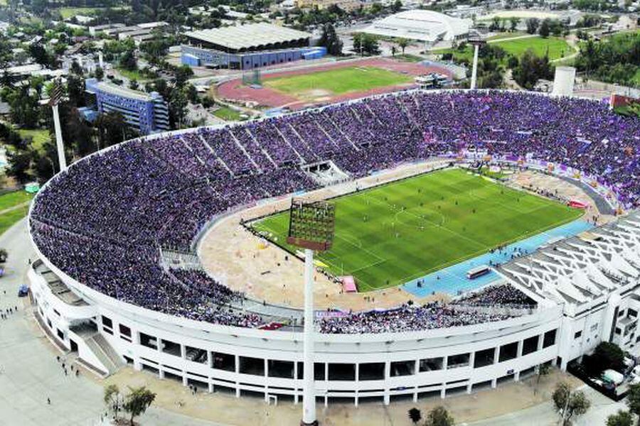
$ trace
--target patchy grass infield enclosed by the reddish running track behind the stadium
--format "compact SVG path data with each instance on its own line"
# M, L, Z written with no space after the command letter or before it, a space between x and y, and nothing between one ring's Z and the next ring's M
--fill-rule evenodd
M343 94L376 87L412 82L413 77L377 67L344 67L303 75L275 77L262 82L266 87L292 95Z

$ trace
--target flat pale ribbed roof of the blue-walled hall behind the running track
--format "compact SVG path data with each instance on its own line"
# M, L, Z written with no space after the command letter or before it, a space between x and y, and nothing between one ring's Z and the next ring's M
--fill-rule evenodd
M188 31L185 35L233 50L262 48L267 45L289 43L311 37L311 34L304 31L270 23L252 23L250 25Z

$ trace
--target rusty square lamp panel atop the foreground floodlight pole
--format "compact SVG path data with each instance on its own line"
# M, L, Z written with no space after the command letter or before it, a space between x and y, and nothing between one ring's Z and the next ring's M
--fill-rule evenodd
M331 249L336 208L326 201L292 200L287 243L314 251Z

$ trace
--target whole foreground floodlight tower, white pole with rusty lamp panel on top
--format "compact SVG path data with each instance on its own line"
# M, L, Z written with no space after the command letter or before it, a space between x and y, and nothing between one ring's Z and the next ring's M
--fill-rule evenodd
M317 426L314 378L314 251L334 241L336 210L329 202L292 200L287 243L304 249L304 346L301 426Z

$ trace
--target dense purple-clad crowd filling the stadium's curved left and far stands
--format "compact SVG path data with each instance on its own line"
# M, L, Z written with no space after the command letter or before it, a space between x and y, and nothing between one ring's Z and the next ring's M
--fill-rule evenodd
M190 251L219 214L315 189L299 165L333 160L358 178L466 146L563 163L616 187L626 203L638 202L640 121L602 102L524 92L405 92L138 138L97 153L41 191L31 232L44 256L90 288L171 315L255 327L260 318L225 307L242 295L201 273L161 268L161 247ZM424 316L422 310L437 309L398 312ZM333 329L346 327L327 330Z

